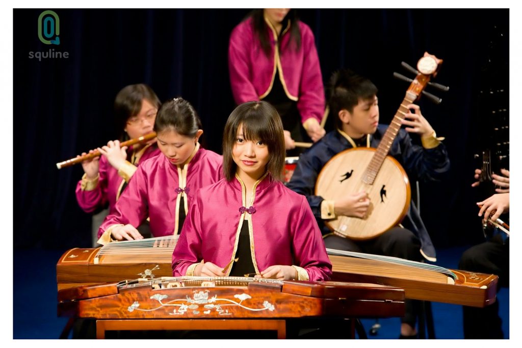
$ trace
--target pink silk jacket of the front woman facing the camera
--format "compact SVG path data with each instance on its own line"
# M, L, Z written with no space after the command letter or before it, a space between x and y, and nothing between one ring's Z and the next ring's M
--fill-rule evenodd
M270 175L260 179L253 192L247 207L238 176L198 191L172 255L173 275L193 275L201 260L227 266L235 258L246 219L256 273L287 265L298 270L299 280L329 280L331 263L306 198Z

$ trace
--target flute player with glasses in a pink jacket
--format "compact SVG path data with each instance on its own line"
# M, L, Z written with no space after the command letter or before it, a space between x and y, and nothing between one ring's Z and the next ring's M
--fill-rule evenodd
M114 213L116 200L137 166L160 153L156 138L146 144L120 147L120 141L152 132L160 105L156 93L143 83L126 86L118 92L114 100L114 121L121 133L120 140L111 140L98 148L101 157L81 162L85 174L76 185L76 200L82 210L91 213L108 206L109 214Z

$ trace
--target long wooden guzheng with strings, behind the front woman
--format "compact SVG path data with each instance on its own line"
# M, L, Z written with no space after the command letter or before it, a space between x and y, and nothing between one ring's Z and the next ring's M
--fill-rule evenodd
M171 277L176 238L113 242L101 248L67 250L56 265L58 290L137 277ZM451 279L437 271L384 260L332 255L340 253L339 250L328 253L333 265L333 281L396 286L406 291L406 298L474 307L487 306L496 299L498 277L493 274L450 270L455 274Z

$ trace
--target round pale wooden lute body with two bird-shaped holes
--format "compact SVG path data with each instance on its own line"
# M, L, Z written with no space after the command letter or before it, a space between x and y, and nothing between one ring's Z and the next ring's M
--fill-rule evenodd
M335 234L352 239L370 239L399 224L406 216L411 189L406 171L399 162L387 156L373 184L363 181L366 167L375 149L353 148L332 157L317 177L315 194L326 200L338 200L347 194L366 191L370 208L365 219L338 216L325 220Z

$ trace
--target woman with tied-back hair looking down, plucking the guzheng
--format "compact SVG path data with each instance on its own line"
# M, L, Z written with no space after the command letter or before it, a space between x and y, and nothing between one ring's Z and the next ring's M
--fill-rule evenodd
M138 167L100 226L100 244L142 239L136 226L148 217L152 236L178 234L196 191L223 177L221 155L199 145L201 121L188 101L175 98L161 105L154 130L162 154Z

